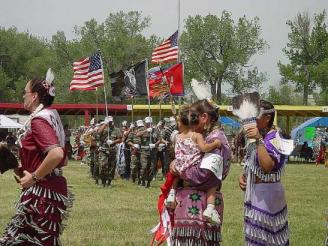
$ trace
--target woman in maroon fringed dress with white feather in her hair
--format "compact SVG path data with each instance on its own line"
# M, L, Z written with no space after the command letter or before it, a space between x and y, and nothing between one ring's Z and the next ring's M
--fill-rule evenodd
M45 80L30 80L25 87L24 108L32 113L18 140L21 167L15 170L23 189L0 245L60 245L72 195L61 169L63 126L57 111L48 109L55 96L53 78L48 72Z

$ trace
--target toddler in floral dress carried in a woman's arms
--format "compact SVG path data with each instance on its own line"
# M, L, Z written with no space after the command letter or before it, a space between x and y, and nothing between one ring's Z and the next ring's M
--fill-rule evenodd
M179 132L175 139L175 169L182 179L186 179L185 172L191 166L199 165L202 158L202 152L210 152L220 147L219 140L214 140L206 144L204 137L200 133L193 131L193 127L198 124L199 115L196 112L186 108L181 111L179 118ZM172 206L175 202L175 193L179 178L173 181L173 188L170 190L166 200L167 206ZM207 207L203 216L213 224L220 224L220 216L215 209L215 193L217 186L211 186L207 190Z

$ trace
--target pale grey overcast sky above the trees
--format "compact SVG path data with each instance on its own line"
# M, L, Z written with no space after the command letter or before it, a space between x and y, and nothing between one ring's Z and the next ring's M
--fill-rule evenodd
M267 74L263 89L270 85L278 86L280 74L278 61L288 63L282 49L288 42L287 20L294 20L301 12L314 13L328 10L328 0L180 0L180 30L184 20L197 14L221 16L229 11L237 20L259 17L261 37L269 48L264 54L254 56L249 64ZM178 0L0 0L0 26L17 27L19 31L51 39L57 31L64 31L73 39L74 26L82 26L91 18L103 22L109 13L118 11L141 11L144 17L151 18L151 26L144 34L169 37L178 28ZM328 24L328 23L327 23Z

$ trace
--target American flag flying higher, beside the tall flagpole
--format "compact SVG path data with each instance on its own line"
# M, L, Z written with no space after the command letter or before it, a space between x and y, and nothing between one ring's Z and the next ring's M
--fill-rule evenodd
M178 31L154 49L151 54L152 63L165 63L178 60Z

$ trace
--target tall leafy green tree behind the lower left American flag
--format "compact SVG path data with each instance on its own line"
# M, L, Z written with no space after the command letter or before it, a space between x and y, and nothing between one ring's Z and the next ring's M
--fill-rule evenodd
M76 39L68 41L65 34L57 32L52 38L52 48L56 53L56 64L60 70L60 79L66 80L61 84L67 88L63 101L95 102L94 92L69 92L69 81L72 77L72 62L99 50L102 54L105 80L108 74L126 68L150 56L159 39L155 36L146 38L142 32L149 27L150 18L142 17L141 12L130 11L124 13L110 13L103 23L91 19L83 26L75 27ZM68 68L70 67L70 68ZM68 82L68 83L67 83ZM110 92L109 83L106 83ZM102 88L100 88L102 90ZM98 92L99 102L104 97ZM110 100L109 100L110 101Z

